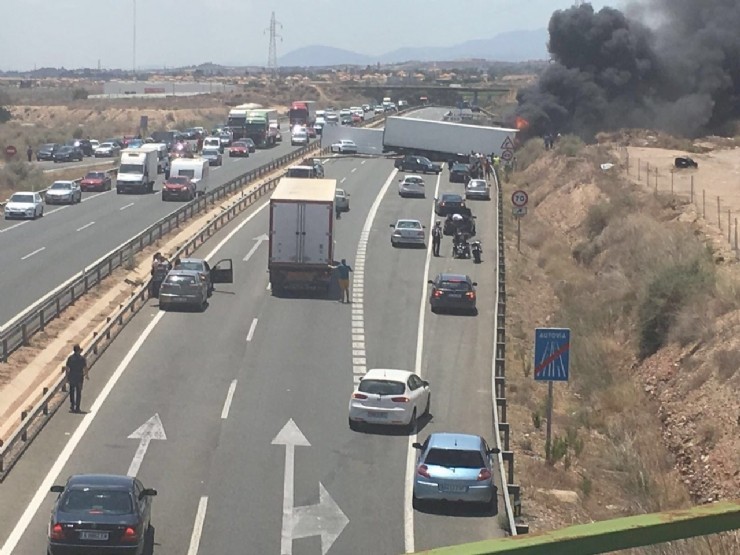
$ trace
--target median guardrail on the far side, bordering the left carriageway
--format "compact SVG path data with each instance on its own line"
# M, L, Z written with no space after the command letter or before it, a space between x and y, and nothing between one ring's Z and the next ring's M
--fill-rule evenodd
M27 345L33 334L43 331L46 325L59 316L66 307L74 303L105 277L111 275L115 269L123 266L136 253L158 241L221 198L274 171L286 162L301 158L315 149L314 143L309 144L227 181L204 196L196 198L155 222L135 237L83 269L79 274L45 295L0 329L0 362L7 362L8 356L19 347Z

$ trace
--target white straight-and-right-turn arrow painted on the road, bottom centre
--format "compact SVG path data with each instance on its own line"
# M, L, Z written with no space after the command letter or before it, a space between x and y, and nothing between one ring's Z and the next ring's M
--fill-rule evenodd
M273 445L285 445L285 479L283 481L283 529L280 537L281 555L293 555L293 540L321 536L321 553L326 555L334 541L349 523L347 515L319 482L318 505L294 507L295 447L311 444L291 418L272 440Z

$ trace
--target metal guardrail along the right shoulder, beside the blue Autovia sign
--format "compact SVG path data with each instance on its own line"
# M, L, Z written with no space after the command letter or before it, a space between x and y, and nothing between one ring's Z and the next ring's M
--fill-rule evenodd
M514 483L514 452L510 450L510 427L506 421L506 242L504 237L504 197L498 172L494 170L497 197L497 282L496 309L494 311L494 357L491 379L493 381L493 428L496 430L496 447L499 472L504 487L504 510L512 536L526 534L529 526L517 523L521 516L521 487ZM503 441L502 441L503 435ZM506 463L506 465L504 465ZM512 502L513 498L513 502Z

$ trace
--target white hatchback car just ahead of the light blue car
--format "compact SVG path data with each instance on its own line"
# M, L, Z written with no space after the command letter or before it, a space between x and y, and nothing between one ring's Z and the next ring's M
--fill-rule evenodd
M361 424L405 426L416 429L416 420L429 414L432 393L429 382L408 370L368 370L349 400L349 427Z

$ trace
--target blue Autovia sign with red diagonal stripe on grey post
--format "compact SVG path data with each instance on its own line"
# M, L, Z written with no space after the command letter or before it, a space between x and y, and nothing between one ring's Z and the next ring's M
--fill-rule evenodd
M545 459L552 462L553 382L567 382L570 377L570 330L536 328L534 330L534 379L547 382L547 432Z

